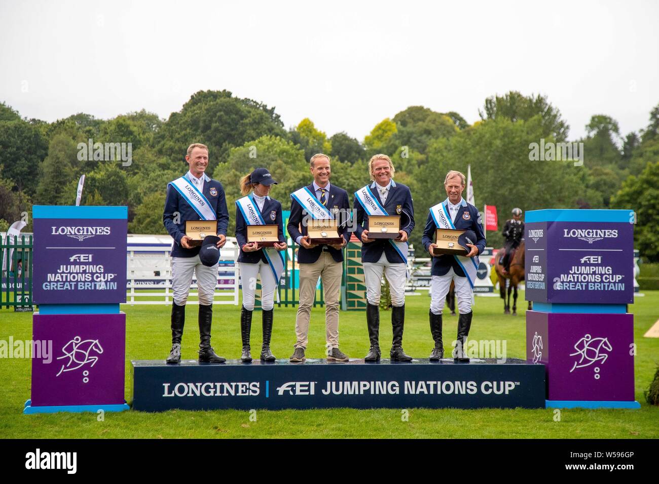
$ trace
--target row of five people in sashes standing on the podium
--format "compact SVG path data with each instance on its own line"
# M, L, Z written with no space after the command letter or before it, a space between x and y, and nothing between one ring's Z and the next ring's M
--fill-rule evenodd
M226 242L229 213L225 194L220 182L206 175L208 148L203 144L191 144L185 157L188 172L169 182L163 213L163 224L174 239L171 250L173 299L171 311L172 347L167 363L181 362L181 338L185 323L185 304L190 292L193 273L196 275L199 295L199 361L225 362L210 346L213 315L213 298L219 249ZM304 362L308 344L311 309L316 297L318 278L322 279L325 303L326 357L328 360L347 362L348 356L339 350L339 290L343 275L343 248L351 237L351 230L362 242L362 265L366 283L366 328L370 349L364 360L380 360L380 288L382 277L391 290L392 342L391 361L412 360L403 351L405 325L405 284L409 278L407 269L407 240L415 228L414 207L410 189L394 181L395 167L384 154L374 155L368 162L370 181L355 192L353 203L354 229L351 225L348 194L330 182L331 167L328 155L318 153L309 161L313 180L291 194L291 214L287 225L289 236L299 245L299 305L295 318L296 342L291 362ZM260 360L274 362L270 350L273 329L274 298L279 278L285 270L282 252L287 249L283 234L281 203L270 197L270 190L277 182L268 169L257 168L243 176L240 182L242 198L236 201L235 235L240 248L238 263L243 289L241 308L241 360L251 362L250 333L254 311L256 282L261 284L262 347ZM449 171L444 180L447 198L434 207L426 220L422 244L432 255L432 282L430 287L430 333L434 349L430 360L444 358L442 342L442 310L446 294L455 284L459 308L457 344L453 350L456 361L468 362L465 338L469 335L472 320L472 294L478 261L476 256L485 248L485 237L478 219L478 209L462 198L465 175ZM397 234L382 238L380 234L369 236L370 217L395 216L398 219ZM395 218L391 217L391 218ZM308 226L314 219L336 221L336 231L341 242L323 243L310 238ZM203 240L193 243L186 235L186 221L208 221L212 233L199 234ZM270 226L277 236L270 244L262 246L248 242L250 225ZM276 226L276 230L274 228ZM468 248L466 255L435 255L437 229L465 230L458 243ZM384 230L384 229L383 229ZM265 232L264 232L265 233Z

